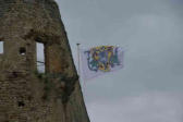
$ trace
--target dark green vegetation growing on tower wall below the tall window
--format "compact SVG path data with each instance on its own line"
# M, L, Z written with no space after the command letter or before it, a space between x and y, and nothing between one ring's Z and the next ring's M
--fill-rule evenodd
M35 72L37 78L44 82L44 100L49 100L51 91L54 91L57 98L63 102L68 101L68 97L74 90L74 83L78 80L78 76L66 77L60 73L39 73Z

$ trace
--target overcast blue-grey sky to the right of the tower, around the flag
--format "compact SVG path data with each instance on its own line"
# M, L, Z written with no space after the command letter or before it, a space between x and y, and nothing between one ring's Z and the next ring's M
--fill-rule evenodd
M58 3L75 62L76 42L125 49L122 70L86 83L91 122L183 122L183 0Z

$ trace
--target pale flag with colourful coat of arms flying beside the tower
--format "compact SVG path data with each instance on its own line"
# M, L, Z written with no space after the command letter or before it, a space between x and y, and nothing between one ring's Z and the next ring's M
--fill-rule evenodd
M123 49L114 46L100 46L82 50L82 77L90 80L122 69L123 54Z

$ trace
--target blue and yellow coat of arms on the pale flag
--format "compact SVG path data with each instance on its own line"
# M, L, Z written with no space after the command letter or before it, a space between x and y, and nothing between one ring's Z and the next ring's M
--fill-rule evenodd
M85 51L87 65L94 72L110 72L112 68L120 65L118 47L101 46Z

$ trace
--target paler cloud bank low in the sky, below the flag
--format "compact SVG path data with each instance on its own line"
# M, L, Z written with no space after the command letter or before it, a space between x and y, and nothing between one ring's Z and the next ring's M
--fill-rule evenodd
M182 122L182 95L146 93L88 103L93 122Z

